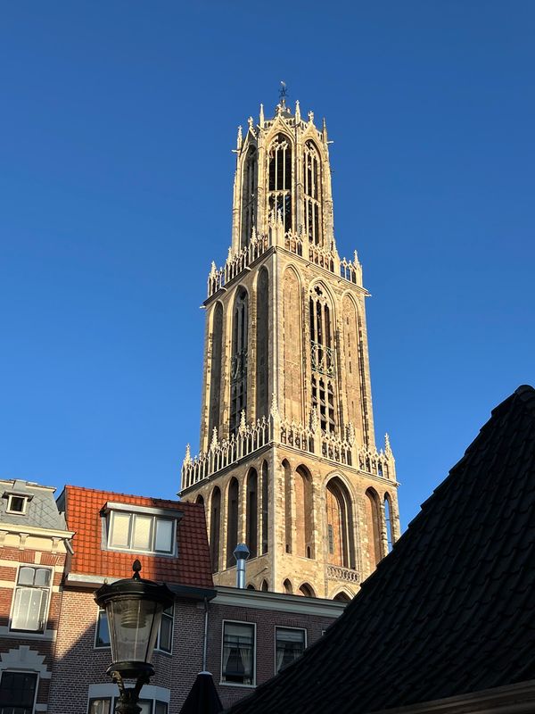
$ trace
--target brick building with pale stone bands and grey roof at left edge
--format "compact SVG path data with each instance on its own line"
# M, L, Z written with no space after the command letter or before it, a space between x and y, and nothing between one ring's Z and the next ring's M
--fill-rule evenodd
M72 533L54 489L0 481L0 708L47 710Z

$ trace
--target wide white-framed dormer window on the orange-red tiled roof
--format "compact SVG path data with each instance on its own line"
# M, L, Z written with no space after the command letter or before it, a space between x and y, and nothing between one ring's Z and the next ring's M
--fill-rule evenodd
M182 511L108 503L106 545L113 551L177 554L177 520Z

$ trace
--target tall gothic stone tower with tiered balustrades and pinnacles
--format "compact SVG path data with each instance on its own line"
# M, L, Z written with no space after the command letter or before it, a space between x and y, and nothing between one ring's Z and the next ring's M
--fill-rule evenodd
M334 242L325 121L289 110L238 130L232 246L208 278L201 450L181 496L206 508L214 579L251 550L258 590L347 599L399 537L377 451L366 289Z

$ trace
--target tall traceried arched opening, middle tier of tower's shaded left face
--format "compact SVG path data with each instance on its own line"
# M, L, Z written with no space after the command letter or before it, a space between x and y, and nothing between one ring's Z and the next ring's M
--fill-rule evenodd
M247 409L247 336L249 320L247 291L238 289L232 325L232 362L230 366L230 433L240 426L242 411Z

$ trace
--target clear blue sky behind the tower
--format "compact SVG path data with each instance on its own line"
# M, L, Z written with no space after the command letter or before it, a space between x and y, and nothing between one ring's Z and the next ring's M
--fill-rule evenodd
M0 476L173 497L235 133L325 115L401 518L533 383L535 4L4 4Z

